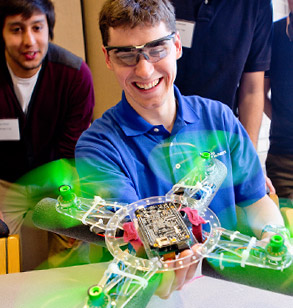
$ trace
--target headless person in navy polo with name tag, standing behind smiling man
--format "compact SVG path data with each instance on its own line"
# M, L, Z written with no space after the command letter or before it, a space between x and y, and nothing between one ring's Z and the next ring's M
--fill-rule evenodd
M172 0L183 55L175 84L184 95L228 105L257 148L269 68L271 0ZM267 189L275 194L271 180Z

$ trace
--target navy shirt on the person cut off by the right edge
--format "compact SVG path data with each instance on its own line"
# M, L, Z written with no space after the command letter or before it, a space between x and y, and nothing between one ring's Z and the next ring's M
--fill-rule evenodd
M287 19L274 23L271 82L271 154L293 154L293 42L287 34Z

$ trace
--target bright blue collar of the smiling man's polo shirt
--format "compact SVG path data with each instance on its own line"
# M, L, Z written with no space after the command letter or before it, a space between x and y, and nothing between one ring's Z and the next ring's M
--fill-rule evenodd
M192 107L184 101L179 89L174 85L175 98L178 102L177 115L174 123L174 130L178 131L181 127L189 123L194 123L199 118ZM116 119L119 126L127 136L139 136L153 129L153 125L143 119L128 103L124 91L122 99L115 107Z

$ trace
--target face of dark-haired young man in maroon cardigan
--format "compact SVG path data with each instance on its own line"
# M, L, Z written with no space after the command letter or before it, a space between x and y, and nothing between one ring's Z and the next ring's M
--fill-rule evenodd
M7 16L2 31L5 57L13 73L22 78L33 76L47 54L49 29L45 14Z

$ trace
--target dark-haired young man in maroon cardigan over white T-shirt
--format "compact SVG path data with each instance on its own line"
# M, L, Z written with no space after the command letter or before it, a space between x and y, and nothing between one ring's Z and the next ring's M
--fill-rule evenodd
M54 24L50 0L0 0L0 212L12 234L48 195L50 187L38 185L50 183L52 175L13 183L43 164L73 158L92 118L90 70L49 42Z

